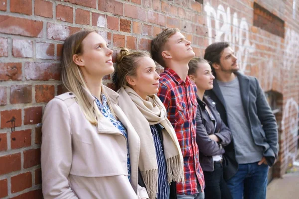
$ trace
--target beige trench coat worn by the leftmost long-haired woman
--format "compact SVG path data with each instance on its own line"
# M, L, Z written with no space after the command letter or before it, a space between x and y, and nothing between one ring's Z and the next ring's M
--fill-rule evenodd
M128 180L125 136L107 118L92 125L75 96L56 96L45 107L42 125L41 170L45 199L149 198L138 185L140 139L117 105L118 94L103 87L111 109L128 131L131 183ZM86 93L90 103L95 98Z

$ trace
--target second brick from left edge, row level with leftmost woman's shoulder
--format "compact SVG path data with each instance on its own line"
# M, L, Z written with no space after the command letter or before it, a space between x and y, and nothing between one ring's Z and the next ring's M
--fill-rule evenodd
M31 103L31 85L12 85L10 87L10 103Z

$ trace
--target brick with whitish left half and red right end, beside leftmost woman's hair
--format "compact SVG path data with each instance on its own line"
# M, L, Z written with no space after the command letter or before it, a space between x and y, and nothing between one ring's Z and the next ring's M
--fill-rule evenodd
M59 80L60 64L54 63L25 63L26 80Z

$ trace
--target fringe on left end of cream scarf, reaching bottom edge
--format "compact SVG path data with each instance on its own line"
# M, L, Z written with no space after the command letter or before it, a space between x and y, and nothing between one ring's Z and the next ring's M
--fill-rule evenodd
M158 170L140 171L149 194L149 199L155 199L158 193Z

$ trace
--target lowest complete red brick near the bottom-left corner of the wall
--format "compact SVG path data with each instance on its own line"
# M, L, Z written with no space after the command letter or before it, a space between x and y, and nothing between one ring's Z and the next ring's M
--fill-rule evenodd
M32 186L31 172L22 173L11 177L11 193L28 189Z

